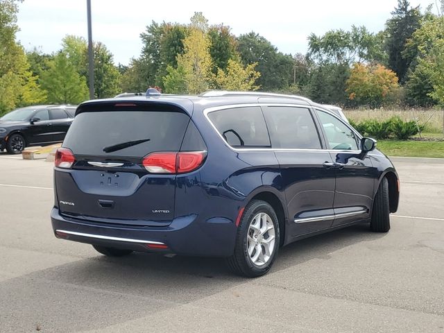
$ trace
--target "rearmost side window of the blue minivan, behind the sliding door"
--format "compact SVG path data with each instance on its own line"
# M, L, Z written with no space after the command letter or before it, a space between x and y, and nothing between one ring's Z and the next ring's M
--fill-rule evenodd
M230 146L271 146L259 106L214 111L208 114L208 118Z

